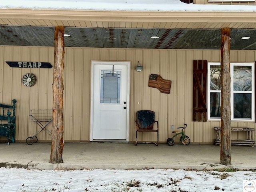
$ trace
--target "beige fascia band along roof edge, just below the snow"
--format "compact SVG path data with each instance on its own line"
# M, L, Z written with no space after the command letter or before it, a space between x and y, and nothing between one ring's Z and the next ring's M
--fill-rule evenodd
M1 19L100 22L256 22L256 12L104 11L2 9ZM40 24L42 26L42 24Z

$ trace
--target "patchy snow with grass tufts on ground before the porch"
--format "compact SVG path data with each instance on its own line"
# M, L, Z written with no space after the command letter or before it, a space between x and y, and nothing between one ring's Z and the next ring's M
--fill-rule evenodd
M242 192L244 180L256 182L255 170L0 168L1 192Z

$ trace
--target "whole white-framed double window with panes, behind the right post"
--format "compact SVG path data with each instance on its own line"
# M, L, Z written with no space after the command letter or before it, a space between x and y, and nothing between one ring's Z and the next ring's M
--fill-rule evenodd
M208 62L208 120L220 120L220 63ZM231 120L254 121L254 63L230 63Z

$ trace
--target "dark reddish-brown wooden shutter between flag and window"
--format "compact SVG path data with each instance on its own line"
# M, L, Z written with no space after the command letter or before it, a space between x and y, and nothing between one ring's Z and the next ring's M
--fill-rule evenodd
M193 121L207 121L207 61L194 60L193 65Z

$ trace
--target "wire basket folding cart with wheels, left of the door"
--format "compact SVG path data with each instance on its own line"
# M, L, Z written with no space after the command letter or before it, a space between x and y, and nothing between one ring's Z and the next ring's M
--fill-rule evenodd
M29 117L32 121L36 122L41 129L38 130L33 136L28 137L26 139L26 143L28 145L32 145L33 143L37 142L37 135L42 131L45 130L45 132L52 136L52 132L50 132L46 127L52 122L52 109L49 110L29 110Z

